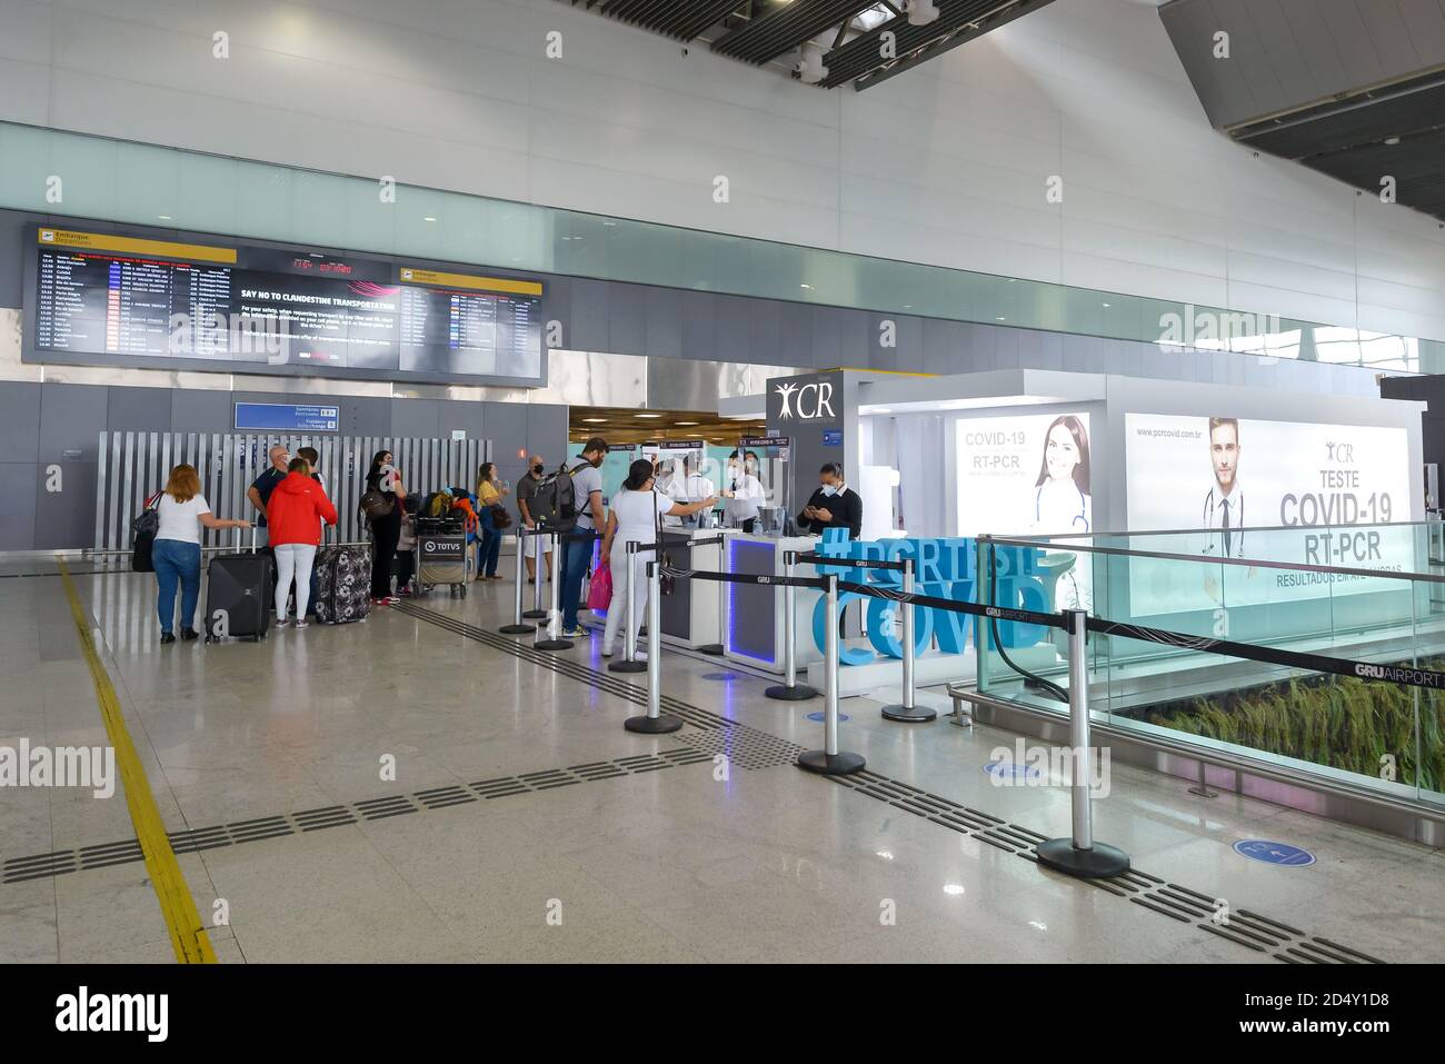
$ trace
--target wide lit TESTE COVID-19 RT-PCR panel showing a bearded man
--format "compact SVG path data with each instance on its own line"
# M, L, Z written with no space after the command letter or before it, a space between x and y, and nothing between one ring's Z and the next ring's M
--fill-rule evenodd
M1124 432L1129 531L1168 531L1134 548L1381 572L1413 565L1412 531L1383 528L1410 520L1403 428L1129 413ZM1379 590L1399 588L1306 570L1130 564L1136 614Z

